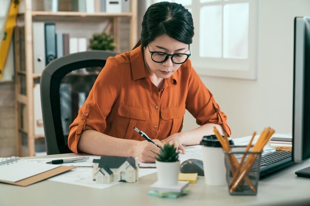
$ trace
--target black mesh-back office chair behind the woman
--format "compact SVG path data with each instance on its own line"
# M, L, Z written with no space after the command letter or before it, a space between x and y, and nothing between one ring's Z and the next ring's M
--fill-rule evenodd
M44 69L41 105L47 154L72 153L69 125L77 117L97 76L114 52L84 51L55 59Z

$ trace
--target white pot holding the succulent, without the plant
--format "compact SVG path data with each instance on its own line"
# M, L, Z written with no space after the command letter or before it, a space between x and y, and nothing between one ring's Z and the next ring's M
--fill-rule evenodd
M160 186L173 186L178 184L180 161L159 162L156 160L157 181Z

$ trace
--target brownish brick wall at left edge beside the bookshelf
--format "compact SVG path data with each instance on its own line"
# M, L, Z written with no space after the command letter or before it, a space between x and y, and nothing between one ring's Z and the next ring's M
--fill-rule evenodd
M17 156L15 84L0 83L0 157Z

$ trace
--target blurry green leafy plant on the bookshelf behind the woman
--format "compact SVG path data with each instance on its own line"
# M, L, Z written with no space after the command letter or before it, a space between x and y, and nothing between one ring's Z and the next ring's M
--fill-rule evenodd
M89 41L89 47L93 50L113 50L116 47L113 36L104 32L94 33Z

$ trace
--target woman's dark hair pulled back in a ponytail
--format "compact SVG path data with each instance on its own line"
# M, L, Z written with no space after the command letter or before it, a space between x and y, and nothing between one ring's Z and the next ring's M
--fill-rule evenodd
M192 14L179 3L158 2L152 4L144 14L141 39L134 47L147 46L161 35L191 44L194 36Z

